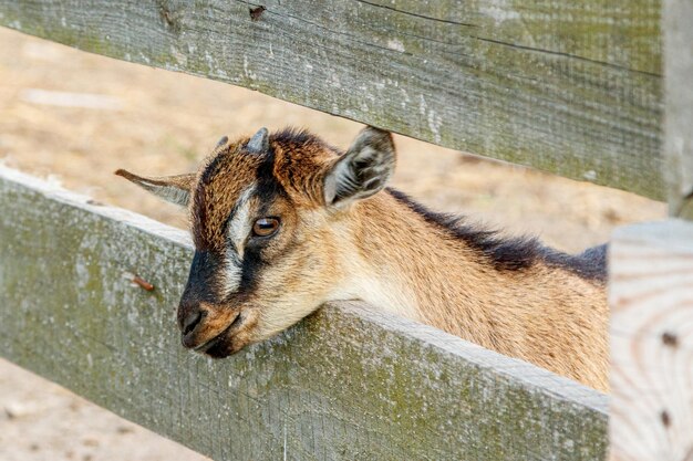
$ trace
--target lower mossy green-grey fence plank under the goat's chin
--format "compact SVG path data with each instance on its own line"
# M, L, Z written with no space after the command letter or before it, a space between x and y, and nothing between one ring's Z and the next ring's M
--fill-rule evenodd
M0 353L215 459L604 457L602 394L355 303L194 355L174 318L182 231L8 169L0 210Z

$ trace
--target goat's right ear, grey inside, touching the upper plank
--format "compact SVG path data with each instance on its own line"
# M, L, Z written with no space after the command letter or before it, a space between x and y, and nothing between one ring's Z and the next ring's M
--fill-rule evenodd
M382 190L394 172L395 150L390 132L368 126L324 178L328 206L344 206Z

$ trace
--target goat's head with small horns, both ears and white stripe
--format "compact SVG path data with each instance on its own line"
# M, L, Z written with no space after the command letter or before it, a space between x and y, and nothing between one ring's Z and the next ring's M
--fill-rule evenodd
M308 133L223 138L197 174L117 175L189 209L195 256L178 306L183 345L213 357L273 336L343 279L349 210L384 188L389 133L364 128L340 155Z

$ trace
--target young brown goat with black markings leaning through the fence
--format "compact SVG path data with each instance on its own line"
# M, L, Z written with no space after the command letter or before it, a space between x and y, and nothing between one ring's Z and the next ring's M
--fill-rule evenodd
M196 174L116 175L189 209L183 345L226 357L330 301L363 300L608 389L606 247L568 255L386 188L387 132L345 153L308 132L224 137Z

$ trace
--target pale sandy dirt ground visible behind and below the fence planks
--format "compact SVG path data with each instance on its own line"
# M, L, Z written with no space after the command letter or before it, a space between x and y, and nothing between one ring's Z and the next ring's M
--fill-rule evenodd
M65 94L66 93L66 94ZM360 124L259 93L0 29L0 161L172 226L184 216L113 176L192 171L223 135L291 125L346 147ZM397 136L394 186L439 210L579 251L662 203ZM0 460L203 457L0 360Z

